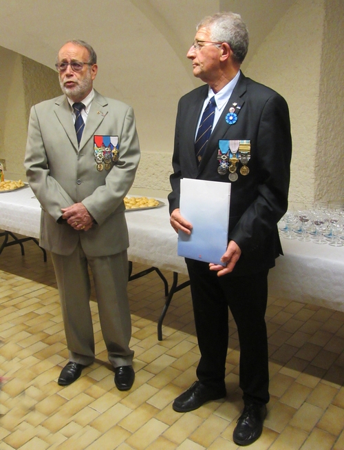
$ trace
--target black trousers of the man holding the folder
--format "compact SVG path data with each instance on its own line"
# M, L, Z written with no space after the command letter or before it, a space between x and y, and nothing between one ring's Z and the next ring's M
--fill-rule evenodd
M207 263L186 258L201 358L197 378L209 387L224 387L228 349L228 307L239 335L239 385L244 402L267 403L268 270L245 276L217 276Z

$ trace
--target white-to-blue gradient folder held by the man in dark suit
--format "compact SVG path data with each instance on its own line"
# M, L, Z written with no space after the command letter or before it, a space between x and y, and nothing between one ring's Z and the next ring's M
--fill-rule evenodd
M221 264L228 243L230 183L182 178L180 214L193 225L178 232L178 255Z

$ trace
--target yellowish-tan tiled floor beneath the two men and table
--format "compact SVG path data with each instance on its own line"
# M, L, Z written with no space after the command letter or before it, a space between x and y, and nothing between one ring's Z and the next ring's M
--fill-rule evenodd
M242 406L233 320L227 398L175 413L171 402L195 380L199 358L189 288L175 294L159 342L164 291L149 274L129 284L133 389L114 387L95 302L97 360L60 387L67 349L52 263L43 263L34 243L25 249L25 256L17 246L0 256L0 450L240 448L232 440ZM270 298L267 320L271 401L263 435L250 449L343 450L344 313Z

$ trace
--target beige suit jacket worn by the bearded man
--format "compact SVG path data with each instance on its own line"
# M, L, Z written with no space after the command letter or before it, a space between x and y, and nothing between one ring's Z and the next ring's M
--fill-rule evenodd
M94 135L118 136L119 160L98 172ZM41 247L61 255L80 241L89 256L108 256L129 246L123 198L140 160L133 109L95 91L80 141L65 95L43 101L30 112L25 169L41 203ZM61 208L82 202L96 225L87 232L59 224Z

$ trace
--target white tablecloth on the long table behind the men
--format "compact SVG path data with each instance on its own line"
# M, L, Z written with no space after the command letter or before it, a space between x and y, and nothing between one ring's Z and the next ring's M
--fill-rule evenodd
M166 203L166 200L161 199ZM30 187L0 194L0 229L39 237L41 208ZM186 274L167 205L127 211L129 259ZM284 256L270 270L269 293L344 311L344 247L281 238Z

